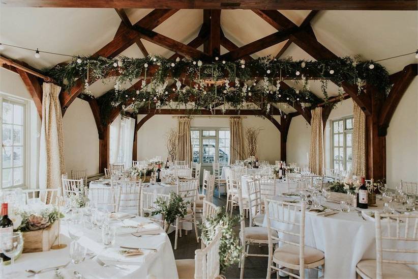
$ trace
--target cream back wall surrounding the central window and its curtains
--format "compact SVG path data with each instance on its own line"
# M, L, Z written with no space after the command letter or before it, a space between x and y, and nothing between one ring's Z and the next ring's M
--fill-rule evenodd
M138 116L140 120L143 115ZM278 118L277 118L278 119ZM279 119L278 119L279 120ZM280 120L279 120L280 122ZM228 117L195 117L191 127L229 127ZM260 127L257 156L259 160L274 163L280 158L280 132L269 120L247 116L243 119L243 130L248 127ZM167 158L167 132L177 129L177 119L171 115L156 115L145 122L138 131L138 160L150 159L154 156Z

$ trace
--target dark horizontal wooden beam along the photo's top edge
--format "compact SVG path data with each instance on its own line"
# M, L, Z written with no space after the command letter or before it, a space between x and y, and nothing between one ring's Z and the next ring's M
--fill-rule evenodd
M412 10L415 0L2 0L6 7L131 9Z

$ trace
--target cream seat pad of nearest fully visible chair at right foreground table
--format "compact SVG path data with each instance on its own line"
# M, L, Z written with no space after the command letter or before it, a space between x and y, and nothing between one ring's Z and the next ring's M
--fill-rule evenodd
M305 245L305 264L314 263L325 257L322 251ZM285 244L277 248L273 253L273 261L298 265L299 264L299 246Z

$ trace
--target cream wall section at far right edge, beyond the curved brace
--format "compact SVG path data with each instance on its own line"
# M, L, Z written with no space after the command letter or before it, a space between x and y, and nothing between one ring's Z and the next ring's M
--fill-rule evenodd
M418 182L418 77L403 95L386 135L387 185Z

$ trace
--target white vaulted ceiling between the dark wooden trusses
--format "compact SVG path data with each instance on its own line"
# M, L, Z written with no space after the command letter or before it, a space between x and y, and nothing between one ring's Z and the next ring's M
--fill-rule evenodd
M136 23L152 10L125 11L130 21ZM280 12L299 25L310 11ZM89 55L113 39L120 22L120 17L113 9L2 8L0 42L71 55ZM187 44L197 36L202 22L202 10L180 10L156 27L155 31ZM363 59L379 60L412 52L417 47L416 11L320 11L311 24L318 41L340 57L361 54ZM221 26L225 36L237 46L276 32L274 27L250 10L222 10ZM150 54L167 58L173 54L163 47L141 41ZM252 56L276 55L285 43L276 44ZM202 47L199 49L202 50ZM221 54L225 52L227 50L221 47ZM32 51L11 47L6 47L2 54L38 69L50 68L69 59L45 53L36 59ZM143 57L135 44L122 55ZM313 60L295 44L291 44L282 57ZM416 63L414 55L381 62L390 73L400 71L410 63ZM287 83L293 85L290 81ZM111 88L111 80L105 85L97 81L91 86L96 97ZM323 97L318 81L311 81L310 89L318 97ZM338 88L330 83L328 93L330 96L337 95Z

